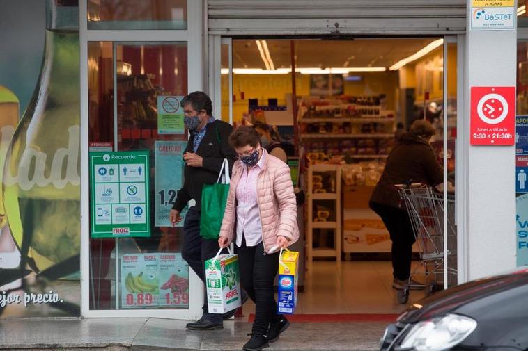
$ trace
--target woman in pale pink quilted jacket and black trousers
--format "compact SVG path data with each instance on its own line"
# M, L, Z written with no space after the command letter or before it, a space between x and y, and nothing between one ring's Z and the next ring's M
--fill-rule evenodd
M290 168L269 154L255 129L240 126L229 137L239 160L227 197L219 247L238 247L240 282L256 304L251 338L244 350L258 351L277 341L289 322L277 314L274 279L279 252L299 238Z

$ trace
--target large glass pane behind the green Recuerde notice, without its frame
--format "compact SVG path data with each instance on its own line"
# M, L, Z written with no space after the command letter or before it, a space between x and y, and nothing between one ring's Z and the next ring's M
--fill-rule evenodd
M189 268L180 254L183 231L168 220L183 181L180 154L187 142L183 118L172 123L179 117L169 110L178 108L186 94L187 44L88 43L90 151L147 151L150 156L150 169L144 170L150 181L150 216L145 219L150 236L91 236L91 309L189 307ZM108 172L120 172L121 177L127 171L121 167ZM109 208L111 215L105 213L108 206L98 206L97 190L93 193L91 233L98 218L107 215L114 221L114 207ZM141 215L142 209L130 207L130 218Z

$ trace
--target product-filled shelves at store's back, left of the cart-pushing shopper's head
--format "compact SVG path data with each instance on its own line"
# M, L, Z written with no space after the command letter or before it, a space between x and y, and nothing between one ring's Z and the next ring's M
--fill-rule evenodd
M394 141L394 112L382 110L381 100L379 95L304 98L299 108L300 138L311 163L386 157Z

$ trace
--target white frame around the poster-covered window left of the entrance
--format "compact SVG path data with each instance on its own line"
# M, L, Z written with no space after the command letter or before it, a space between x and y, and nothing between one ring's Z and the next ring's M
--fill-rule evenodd
M187 0L186 30L88 30L87 1L79 0L80 92L81 92L81 174L88 174L88 42L186 42L187 91L203 90L203 2ZM194 19L202 19L195 21ZM115 59L115 58L114 58ZM115 74L115 72L114 72ZM90 309L89 183L81 176L81 316L84 318L153 317L194 320L201 316L203 283L189 269L189 309Z

